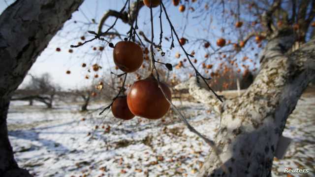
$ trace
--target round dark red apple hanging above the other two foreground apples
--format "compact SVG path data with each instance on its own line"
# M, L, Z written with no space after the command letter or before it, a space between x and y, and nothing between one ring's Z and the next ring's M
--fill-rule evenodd
M118 42L113 51L114 63L122 71L137 71L143 62L141 47L131 41Z

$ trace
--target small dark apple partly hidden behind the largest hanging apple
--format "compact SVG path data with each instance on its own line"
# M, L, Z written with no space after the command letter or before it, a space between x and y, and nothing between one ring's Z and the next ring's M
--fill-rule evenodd
M134 117L127 105L127 97L118 97L112 105L112 113L116 118L130 120Z

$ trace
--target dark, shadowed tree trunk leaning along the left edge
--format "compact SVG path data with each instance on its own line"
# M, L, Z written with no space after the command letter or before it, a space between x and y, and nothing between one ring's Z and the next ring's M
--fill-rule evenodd
M0 177L27 177L13 157L6 117L13 91L83 0L17 0L0 16Z

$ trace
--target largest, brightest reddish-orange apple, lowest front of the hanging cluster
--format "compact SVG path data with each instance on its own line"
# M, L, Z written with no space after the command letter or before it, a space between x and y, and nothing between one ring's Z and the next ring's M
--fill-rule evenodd
M163 82L160 85L166 97L171 100L171 90ZM158 87L158 81L152 75L133 83L127 95L127 104L134 115L148 119L161 118L170 107Z

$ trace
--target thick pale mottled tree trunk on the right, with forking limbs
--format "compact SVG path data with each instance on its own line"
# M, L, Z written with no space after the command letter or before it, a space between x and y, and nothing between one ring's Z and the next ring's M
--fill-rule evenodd
M292 33L271 39L262 55L261 70L247 91L223 104L189 80L189 93L214 107L221 118L215 142L227 173L216 154L210 154L199 177L269 177L288 115L308 83L315 78L315 39L290 52ZM182 85L183 87L183 85Z

